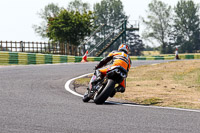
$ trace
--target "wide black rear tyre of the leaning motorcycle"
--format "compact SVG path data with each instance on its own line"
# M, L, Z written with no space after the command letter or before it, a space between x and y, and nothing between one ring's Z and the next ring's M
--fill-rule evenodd
M96 96L94 97L94 102L96 104L103 104L112 93L114 87L115 81L113 81L112 79L108 79L108 82L103 91L101 91L99 94L96 94Z

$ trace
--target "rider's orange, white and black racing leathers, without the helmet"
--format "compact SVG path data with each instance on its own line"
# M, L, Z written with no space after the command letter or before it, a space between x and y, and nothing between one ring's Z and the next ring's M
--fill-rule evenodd
M109 69L112 69L113 66L121 66L127 71L129 71L129 69L131 67L131 60L130 60L128 54L126 54L123 51L113 51L113 52L109 53L109 55L107 57L103 58L99 62L99 64L96 66L96 68L98 69L98 68L103 67L111 60L112 60L112 64L110 66L108 66L107 68L99 69L99 71L101 72L101 74L103 76L105 76L107 74L107 71ZM123 86L124 88L126 88L125 79L122 81L122 83L120 85Z

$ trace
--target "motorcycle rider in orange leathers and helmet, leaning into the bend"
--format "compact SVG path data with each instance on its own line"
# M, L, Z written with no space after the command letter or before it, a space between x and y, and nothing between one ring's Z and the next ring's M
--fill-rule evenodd
M127 72L128 72L130 67L131 67L131 59L130 59L130 57L128 55L128 52L129 52L128 45L121 44L119 46L119 48L118 48L118 51L112 51L111 53L108 54L107 57L103 58L99 62L99 64L97 64L95 66L95 70L96 70L95 71L95 75L97 76L96 82L98 82L99 80L103 79L103 77L106 76L107 71L109 71L110 69L112 69L112 67L115 67L115 66L121 66L125 70L127 70ZM105 66L110 61L112 61L112 65L110 65L107 68L102 68L103 66ZM99 69L99 68L101 68L101 69ZM120 83L120 85L115 88L115 91L113 92L112 96L114 96L114 94L116 92L123 93L125 91L125 88L126 88L126 81L124 79Z

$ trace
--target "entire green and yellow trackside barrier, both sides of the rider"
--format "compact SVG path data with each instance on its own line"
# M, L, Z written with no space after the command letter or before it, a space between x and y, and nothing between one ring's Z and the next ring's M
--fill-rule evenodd
M103 57L88 57L89 62L100 61ZM200 54L179 54L180 59L200 59ZM173 60L175 56L131 56L131 60ZM68 62L81 62L81 56L66 56L52 54L35 54L0 51L0 65L14 64L56 64Z

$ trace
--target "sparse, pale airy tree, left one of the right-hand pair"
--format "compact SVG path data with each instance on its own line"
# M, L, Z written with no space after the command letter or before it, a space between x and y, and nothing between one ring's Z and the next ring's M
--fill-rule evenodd
M156 40L161 45L161 53L168 53L170 34L171 34L171 20L172 8L164 2L153 0L148 5L147 20L143 19L146 25L143 38L146 40Z

